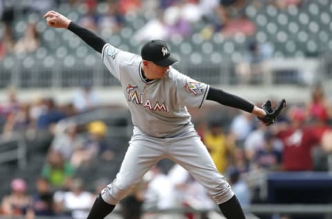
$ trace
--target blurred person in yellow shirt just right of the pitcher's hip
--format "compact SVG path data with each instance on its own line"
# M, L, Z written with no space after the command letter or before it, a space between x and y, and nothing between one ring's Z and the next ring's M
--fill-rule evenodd
M234 144L228 142L220 122L210 122L209 131L203 135L205 146L220 173L225 173L234 153Z

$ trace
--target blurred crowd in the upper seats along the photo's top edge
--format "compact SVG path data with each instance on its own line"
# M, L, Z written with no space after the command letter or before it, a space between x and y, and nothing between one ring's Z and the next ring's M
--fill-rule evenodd
M79 11L75 21L103 36L118 33L124 26L132 26L134 21L128 18L141 15L146 22L136 26L132 39L142 42L191 37L198 22L204 23L197 30L203 39L210 39L216 32L225 38L234 37L239 32L254 35L255 21L251 21L245 12L249 4L257 10L267 5L283 10L288 6L300 7L301 0L27 0L21 3L1 0L0 59L5 55L33 52L43 44L43 32L38 31L36 24L48 10L62 12L67 8L64 12L67 13L69 8L69 11ZM18 17L26 23L15 27Z

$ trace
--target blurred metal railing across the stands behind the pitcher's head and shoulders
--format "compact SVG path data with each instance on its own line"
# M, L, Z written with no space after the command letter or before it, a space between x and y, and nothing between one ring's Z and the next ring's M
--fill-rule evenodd
M71 61L46 57L6 57L0 62L0 88L12 84L17 88L71 88L91 82L96 87L119 86L98 55L90 55L91 63L86 63L77 57L68 57ZM204 58L204 57L203 57ZM69 64L68 64L69 63ZM326 65L327 66L327 65ZM232 85L241 82L241 75L236 73L236 64L224 59L214 63L203 59L193 63L183 57L175 65L186 75L214 85ZM266 61L266 70L250 77L257 77L254 86L270 84L295 84L308 86L317 80L324 79L321 73L320 59L270 59Z

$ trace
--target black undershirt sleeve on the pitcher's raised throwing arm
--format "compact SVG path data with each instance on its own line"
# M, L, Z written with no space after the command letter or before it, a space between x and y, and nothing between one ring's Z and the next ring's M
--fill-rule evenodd
M71 30L71 32L75 33L78 37L83 39L83 41L86 42L89 46L91 46L94 50L96 50L99 53L102 53L102 48L106 44L104 39L98 37L90 30L87 30L86 28L82 28L81 26L77 25L73 21L69 23L68 30Z

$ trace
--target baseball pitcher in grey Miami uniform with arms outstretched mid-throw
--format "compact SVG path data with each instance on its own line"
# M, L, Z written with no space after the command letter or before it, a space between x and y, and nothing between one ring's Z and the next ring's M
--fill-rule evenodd
M241 206L214 165L208 150L194 130L187 106L200 108L206 99L256 115L273 124L284 99L273 109L270 102L259 108L250 102L183 75L172 67L176 60L164 41L152 40L136 55L107 44L93 32L49 11L48 26L71 30L101 53L109 72L122 86L133 120L133 136L120 171L95 200L89 219L101 219L113 211L151 166L167 158L181 164L200 182L228 219L245 218Z

